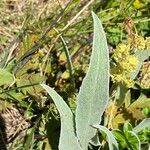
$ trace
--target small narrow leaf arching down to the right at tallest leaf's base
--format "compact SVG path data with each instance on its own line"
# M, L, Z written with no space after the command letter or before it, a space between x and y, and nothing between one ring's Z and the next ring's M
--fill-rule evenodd
M107 139L108 139L109 150L114 150L114 146L115 148L118 149L118 143L114 135L106 127L101 126L101 125L93 125L93 127L99 129L99 131L103 131L106 133Z

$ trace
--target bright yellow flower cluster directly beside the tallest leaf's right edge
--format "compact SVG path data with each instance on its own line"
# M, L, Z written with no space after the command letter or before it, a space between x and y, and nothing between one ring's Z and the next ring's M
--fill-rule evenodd
M131 54L130 44L119 44L113 54L116 66L111 69L113 82L122 83L127 87L133 87L134 81L130 78L130 73L136 69L138 59Z

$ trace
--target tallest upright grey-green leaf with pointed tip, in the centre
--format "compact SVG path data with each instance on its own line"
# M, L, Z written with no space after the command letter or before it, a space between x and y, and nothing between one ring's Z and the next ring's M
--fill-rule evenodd
M109 51L99 18L94 20L93 51L88 72L77 96L76 132L84 150L95 136L91 125L99 124L109 99Z

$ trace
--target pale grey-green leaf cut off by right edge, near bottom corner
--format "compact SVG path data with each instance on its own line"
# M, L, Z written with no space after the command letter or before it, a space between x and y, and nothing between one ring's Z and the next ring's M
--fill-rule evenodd
M138 133L147 127L150 127L150 118L144 119L140 124L133 128L133 132Z

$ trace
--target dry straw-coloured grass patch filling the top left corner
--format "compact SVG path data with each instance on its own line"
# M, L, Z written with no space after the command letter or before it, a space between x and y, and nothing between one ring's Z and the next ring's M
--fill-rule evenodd
M33 21L38 21L57 7L64 7L69 0L1 0L0 1L0 49L12 41L19 32L27 15L32 14Z

